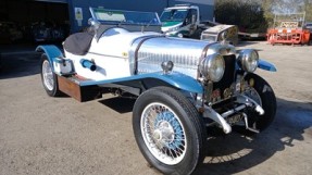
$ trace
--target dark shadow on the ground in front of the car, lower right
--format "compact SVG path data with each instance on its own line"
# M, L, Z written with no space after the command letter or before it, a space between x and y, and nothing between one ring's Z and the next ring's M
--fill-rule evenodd
M209 139L203 165L195 174L235 174L269 160L294 140L303 140L303 133L312 136L312 103L277 100L274 123L263 133L246 137L233 133ZM309 129L309 130L308 130Z

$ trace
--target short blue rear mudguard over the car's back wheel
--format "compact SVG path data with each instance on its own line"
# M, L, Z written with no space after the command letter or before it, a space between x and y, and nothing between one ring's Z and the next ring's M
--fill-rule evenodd
M45 52L50 63L59 62L59 57L63 57L62 51L54 45L41 45L36 48L37 52ZM54 71L53 64L52 70Z

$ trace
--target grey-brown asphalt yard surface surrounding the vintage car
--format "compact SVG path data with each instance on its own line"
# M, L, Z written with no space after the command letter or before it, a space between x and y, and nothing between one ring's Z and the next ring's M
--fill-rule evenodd
M311 174L312 47L244 42L242 48L258 49L277 66L276 73L257 71L276 93L275 121L255 137L232 133L209 139L196 173ZM39 55L28 51L2 55L0 175L159 174L135 142L134 100L50 98L41 86Z

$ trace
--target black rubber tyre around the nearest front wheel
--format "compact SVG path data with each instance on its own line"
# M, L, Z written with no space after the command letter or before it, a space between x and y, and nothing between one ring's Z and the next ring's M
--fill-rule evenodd
M164 161L160 161L159 158L154 157L153 153L150 151L150 148L152 147L147 146L145 141L146 135L143 136L143 132L141 130L142 129L141 122L143 121L142 113L146 109L148 109L149 105L153 103L164 104L167 108L170 108L174 112L174 114L176 114L174 116L178 117L180 122L179 124L182 124L180 128L183 128L182 130L184 130L184 136L186 138L186 141L185 141L186 146L185 147L178 146L178 147L182 149L183 148L186 148L186 149L184 150L185 153L182 160L175 164L169 164L169 163L164 163ZM159 109L160 111L161 108L155 108L155 109ZM161 115L163 115L163 112L159 112L157 114L157 118ZM157 118L152 121L157 123ZM172 121L172 118L170 121ZM155 126L161 122L159 122L158 124L154 124L154 123L153 125ZM195 168L198 165L200 165L203 161L204 145L205 145L205 139L207 139L207 133L205 133L203 123L201 122L199 113L197 112L194 104L185 96L183 96L178 90L175 90L169 87L155 87L155 88L147 90L141 96L139 96L139 98L135 102L134 111L133 111L133 129L134 129L137 145L141 153L146 158L146 160L149 162L151 166L155 167L157 170L159 170L160 172L164 174L175 174L175 175L191 174L195 171ZM155 138L154 138L155 133L157 133L157 129L153 130L153 138L150 137L150 139L153 139L152 141L155 141ZM177 138L176 135L177 134L174 133L174 136ZM154 143L154 147L158 147L155 142L153 143ZM183 141L180 143L183 143ZM162 153L167 157L173 155L171 153L174 150L165 149L165 148L169 148L169 145L165 145L165 146L162 147L163 149L162 151L164 151ZM177 150L177 148L175 149Z

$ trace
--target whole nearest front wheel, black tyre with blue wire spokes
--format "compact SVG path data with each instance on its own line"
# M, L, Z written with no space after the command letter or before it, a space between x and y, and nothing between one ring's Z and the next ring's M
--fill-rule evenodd
M179 91L157 87L137 99L133 129L146 160L164 174L191 174L203 161L205 129Z

